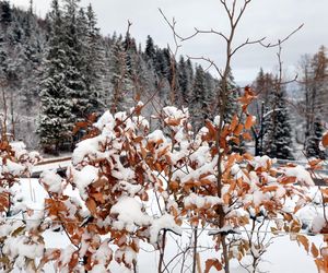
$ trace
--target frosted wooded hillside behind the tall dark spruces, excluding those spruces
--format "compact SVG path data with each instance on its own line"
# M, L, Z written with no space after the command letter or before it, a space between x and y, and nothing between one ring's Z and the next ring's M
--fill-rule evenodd
M86 13L86 9L78 7L77 16ZM25 141L30 147L37 147L39 143L35 132L42 108L40 94L46 78L50 32L49 14L43 20L31 10L23 11L8 1L0 1L0 79L5 98L5 102L1 100L0 107L2 112L7 108L7 131L15 139ZM129 33L107 37L98 33L96 35L97 47L101 47L96 50L103 52L103 59L98 62L102 67L96 69L102 79L97 86L102 105L96 111L131 107L136 99L147 100L154 92L153 102L159 109L172 103L188 106L195 97L199 97L194 94L196 76L203 81L201 90L196 92L200 92L200 97L207 98L208 104L213 104L211 96L218 81L183 57L172 60L169 49L156 46L151 36L147 39L145 48L141 49ZM120 78L124 81L118 91ZM171 95L172 88L174 98ZM149 107L145 115L153 111L153 107ZM209 110L206 110L208 114Z

